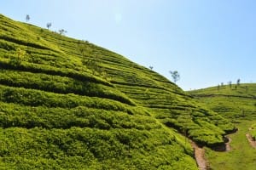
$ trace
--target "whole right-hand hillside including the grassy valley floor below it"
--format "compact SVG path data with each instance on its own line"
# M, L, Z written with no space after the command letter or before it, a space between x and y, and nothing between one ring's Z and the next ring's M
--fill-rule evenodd
M256 152L256 84L232 84L189 91L196 101L236 124L238 131L230 134L230 150L224 153L207 150L212 169L255 169ZM254 140L254 141L253 141Z

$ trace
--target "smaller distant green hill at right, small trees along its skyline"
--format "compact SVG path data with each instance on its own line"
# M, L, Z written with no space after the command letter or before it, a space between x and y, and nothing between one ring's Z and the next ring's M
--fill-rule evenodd
M189 91L189 94L233 122L237 118L256 118L256 83L204 88Z

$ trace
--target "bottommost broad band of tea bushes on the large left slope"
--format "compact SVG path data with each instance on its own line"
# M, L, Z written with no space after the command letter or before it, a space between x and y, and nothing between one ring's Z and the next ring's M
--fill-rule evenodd
M172 144L172 139L163 140L166 135L162 130L10 127L0 131L1 163L7 168L26 169L109 169L113 165L122 169L172 169L177 164L181 169L196 169L191 157L177 153L179 145ZM151 154L145 155L146 150Z

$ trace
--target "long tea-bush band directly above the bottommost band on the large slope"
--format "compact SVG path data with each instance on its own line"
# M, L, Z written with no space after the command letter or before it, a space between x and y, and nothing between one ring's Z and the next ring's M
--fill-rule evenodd
M137 111L138 112L138 111ZM142 112L143 114L143 112ZM1 127L96 127L154 129L160 125L154 119L144 115L129 115L123 111L106 111L103 109L78 106L72 109L48 108L46 106L24 106L1 102Z

